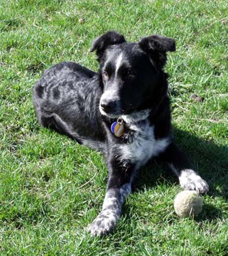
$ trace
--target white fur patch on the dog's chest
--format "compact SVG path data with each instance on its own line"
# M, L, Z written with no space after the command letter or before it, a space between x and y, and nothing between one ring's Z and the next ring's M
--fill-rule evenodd
M129 126L133 131L132 142L120 146L120 155L123 160L136 163L138 168L170 144L169 138L155 139L154 126L147 119L130 123Z

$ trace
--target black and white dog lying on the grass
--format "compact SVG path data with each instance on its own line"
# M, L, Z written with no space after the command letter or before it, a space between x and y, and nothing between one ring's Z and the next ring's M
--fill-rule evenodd
M116 226L137 171L151 158L168 163L184 189L204 193L209 187L171 134L163 67L175 41L153 35L128 43L108 31L94 40L90 51L95 50L98 73L61 62L35 83L33 104L41 125L105 154L107 191L102 211L89 227L93 235L103 235Z

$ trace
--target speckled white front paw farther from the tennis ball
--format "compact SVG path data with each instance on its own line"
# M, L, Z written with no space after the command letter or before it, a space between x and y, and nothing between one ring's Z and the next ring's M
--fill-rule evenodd
M117 214L110 210L103 210L94 219L89 227L89 232L93 236L106 235L113 231L118 220Z

